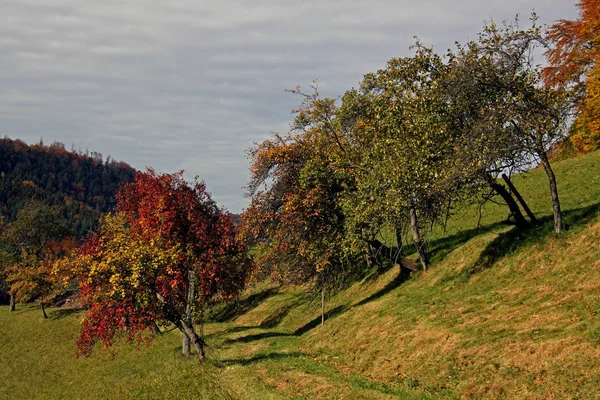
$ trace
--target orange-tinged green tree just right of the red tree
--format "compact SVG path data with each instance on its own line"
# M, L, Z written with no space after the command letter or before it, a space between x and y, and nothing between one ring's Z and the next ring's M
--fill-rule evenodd
M302 102L287 136L274 135L249 151L252 201L242 232L255 243L259 274L310 284L324 301L326 291L361 266L344 248L339 197L350 183L331 163L336 144L326 134L333 129L335 99L321 99L313 89L292 91Z

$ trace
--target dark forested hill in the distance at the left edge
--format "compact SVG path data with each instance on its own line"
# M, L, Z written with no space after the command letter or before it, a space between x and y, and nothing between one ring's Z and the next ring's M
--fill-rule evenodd
M8 220L30 200L64 206L73 233L82 236L115 205L115 193L135 170L102 154L66 150L64 144L28 145L0 138L0 210Z

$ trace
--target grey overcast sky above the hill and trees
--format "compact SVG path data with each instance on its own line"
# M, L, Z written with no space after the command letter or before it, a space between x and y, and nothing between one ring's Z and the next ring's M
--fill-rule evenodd
M0 0L0 136L185 170L240 212L246 150L289 131L285 89L341 96L415 36L444 52L532 10L577 17L572 0Z

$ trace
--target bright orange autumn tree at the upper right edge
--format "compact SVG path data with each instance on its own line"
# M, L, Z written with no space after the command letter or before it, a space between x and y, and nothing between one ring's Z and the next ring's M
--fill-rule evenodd
M600 2L580 0L579 19L561 20L548 33L555 47L546 55L550 66L544 81L570 87L575 94L577 118L571 143L579 153L600 149Z

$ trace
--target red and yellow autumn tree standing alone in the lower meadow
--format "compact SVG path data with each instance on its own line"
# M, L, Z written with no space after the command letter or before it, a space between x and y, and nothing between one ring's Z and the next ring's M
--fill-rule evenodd
M89 355L98 341L110 346L122 333L150 340L144 333L158 322L175 325L183 354L193 346L203 360L196 318L211 301L239 293L250 267L230 215L203 183L189 185L181 172L138 173L117 197L117 214L103 219L75 261L90 305L80 354Z

